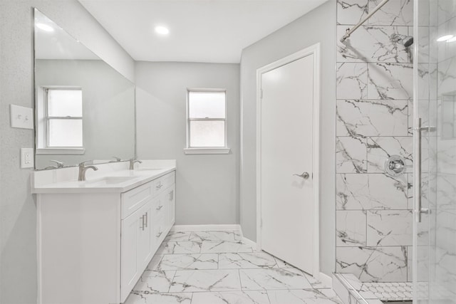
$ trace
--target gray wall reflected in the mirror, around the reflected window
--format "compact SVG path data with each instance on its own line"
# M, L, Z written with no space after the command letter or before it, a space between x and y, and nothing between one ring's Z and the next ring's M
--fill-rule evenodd
M75 165L87 159L135 157L135 85L104 61L45 60L35 63L38 86L68 85L83 90L84 154L37 154L35 167L51 159Z

